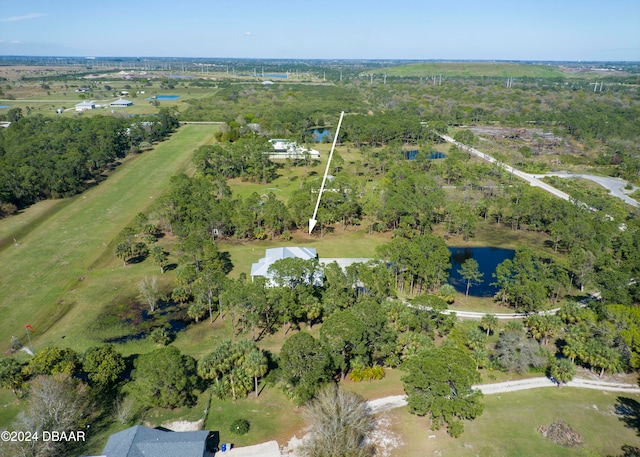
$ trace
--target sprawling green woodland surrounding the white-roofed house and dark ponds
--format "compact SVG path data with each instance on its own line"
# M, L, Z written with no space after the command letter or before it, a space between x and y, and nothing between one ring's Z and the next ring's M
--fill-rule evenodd
M110 423L111 415L120 414L127 423L150 408L193 406L205 392L220 399L257 398L260 385L278 386L304 405L326 384L379 379L385 369L397 368L406 373L410 411L429 415L433 429L446 426L457 437L464 421L483 412L481 395L471 389L480 374L548 372L560 386L577 368L599 376L635 373L637 210L588 193L580 200L597 211L556 199L442 144L435 134L495 148L507 163L548 166L570 156L636 182L639 89L635 79L623 82L599 96L557 79L523 78L507 91L484 78L439 86L420 78L374 84L354 76L336 84L221 84L215 95L190 100L182 113L163 108L144 118L12 112L10 128L0 129L0 215L75 195L127 154L153 154L146 144L165 139L178 120L225 125L214 144L194 148L189 173L174 176L164 195L108 244L105 257L120 259L109 268L129 269L136 289L135 296L119 296L109 305L140 305L128 311L128 318L137 313L129 321L117 323L124 344L138 335L153 350L125 357L119 349L131 346L100 336L100 326L119 317L102 310L92 323L95 347L48 345L28 360L3 357L0 386L24 398L29 386L38 392L51 382L62 398L75 392L90 400L93 409L77 405L72 429L87 418ZM311 143L311 129L331 126L345 106L349 112L313 237L364 227L362 236L383 234L386 242L371 248L370 262L344 270L321 267L316 259L280 260L270 270L273 284L234 271L229 246L254 243L258 252L262 241L302 240L316 203L319 164L309 157L269 160L267 139ZM535 126L570 147L550 152L542 136L525 143L524 134L485 138L470 129L480 124ZM441 155L432 156L434 151ZM286 195L277 187L239 192L282 178L295 183ZM492 283L496 306L527 313L522 322L502 324L489 313L464 324L443 313L456 300L448 284L447 242L473 240L479 226L545 240L542 248L519 242L492 277L480 278L477 265L462 267L469 281L465 295L473 281ZM145 262L154 263L161 281L140 276L136 268ZM601 299L586 300L595 291ZM560 310L538 314L551 308ZM174 321L180 330L169 325ZM227 334L214 347L191 354L174 344L181 332L217 326ZM274 335L281 335L281 344L265 348ZM16 338L13 349L25 344ZM36 406L26 408L29 418Z

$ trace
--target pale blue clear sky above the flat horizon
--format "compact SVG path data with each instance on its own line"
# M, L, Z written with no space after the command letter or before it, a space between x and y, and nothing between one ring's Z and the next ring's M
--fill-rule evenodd
M640 1L0 0L0 55L640 61Z

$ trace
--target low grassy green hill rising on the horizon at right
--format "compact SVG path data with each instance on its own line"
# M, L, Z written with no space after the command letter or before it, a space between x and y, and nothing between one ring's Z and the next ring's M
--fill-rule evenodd
M555 78L566 76L559 68L506 62L429 62L381 69L388 76Z

